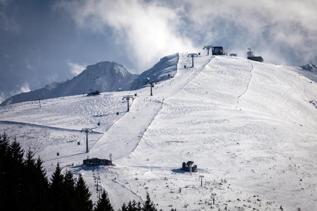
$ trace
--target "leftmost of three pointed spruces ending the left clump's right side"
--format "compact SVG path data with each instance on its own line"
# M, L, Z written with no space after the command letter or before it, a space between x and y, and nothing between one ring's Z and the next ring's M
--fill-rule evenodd
M61 201L64 196L64 188L63 181L64 177L61 174L61 168L59 162L57 162L57 166L55 172L52 175L52 182L50 184L50 196L52 200L53 209L56 211L62 211L63 207Z

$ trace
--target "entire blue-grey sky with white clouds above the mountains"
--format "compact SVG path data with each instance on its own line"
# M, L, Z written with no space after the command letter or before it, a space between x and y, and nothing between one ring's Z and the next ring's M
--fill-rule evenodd
M115 61L133 73L223 46L264 62L317 63L317 1L0 0L0 101Z

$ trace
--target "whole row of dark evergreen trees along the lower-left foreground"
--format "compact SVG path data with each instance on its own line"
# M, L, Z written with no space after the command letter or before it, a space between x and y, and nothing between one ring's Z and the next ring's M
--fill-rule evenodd
M5 133L0 135L0 209L34 211L113 211L105 190L100 201L93 204L91 193L79 176L64 174L57 163L51 182L46 176L40 157L35 158L29 149L24 158L20 143L9 142ZM136 201L123 203L121 211L157 211L149 194L145 204Z

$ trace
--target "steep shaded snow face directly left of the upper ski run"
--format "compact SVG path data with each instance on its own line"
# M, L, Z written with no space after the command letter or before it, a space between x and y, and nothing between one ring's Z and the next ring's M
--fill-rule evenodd
M142 88L148 84L147 82L149 80L159 82L174 77L177 71L178 59L178 53L163 57L152 68L140 74L139 77L132 82L131 89L136 90ZM168 76L168 74L170 74L170 76Z

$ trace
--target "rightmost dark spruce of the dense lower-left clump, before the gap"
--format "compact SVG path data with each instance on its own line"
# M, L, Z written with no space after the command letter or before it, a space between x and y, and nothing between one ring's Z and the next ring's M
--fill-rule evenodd
M86 185L86 182L82 176L78 177L77 184L75 186L76 210L77 211L91 211L93 209L93 202L90 199L91 193Z

